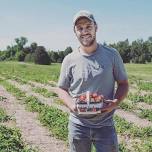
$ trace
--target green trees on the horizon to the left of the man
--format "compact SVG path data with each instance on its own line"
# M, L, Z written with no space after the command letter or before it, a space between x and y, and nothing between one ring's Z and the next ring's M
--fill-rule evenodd
M28 42L26 37L15 38L15 44L7 46L6 50L0 51L0 61L22 61L34 62L36 64L49 65L51 63L61 63L64 57L72 52L71 47L64 51L46 50L44 46L38 46L36 42L25 46Z

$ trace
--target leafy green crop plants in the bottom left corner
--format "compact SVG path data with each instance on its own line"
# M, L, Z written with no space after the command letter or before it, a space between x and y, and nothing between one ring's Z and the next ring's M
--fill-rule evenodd
M4 109L0 108L0 123L11 120ZM37 152L23 142L20 130L0 124L0 152Z

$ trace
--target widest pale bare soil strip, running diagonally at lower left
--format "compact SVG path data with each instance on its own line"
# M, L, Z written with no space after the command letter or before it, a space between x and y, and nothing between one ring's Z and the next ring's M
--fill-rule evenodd
M16 123L6 123L8 126L20 128L25 142L32 147L37 147L41 152L67 152L68 148L64 141L56 139L50 131L43 127L37 120L37 114L27 112L24 105L19 104L14 96L0 86L0 95L5 97L5 102L1 101L8 115L14 115Z

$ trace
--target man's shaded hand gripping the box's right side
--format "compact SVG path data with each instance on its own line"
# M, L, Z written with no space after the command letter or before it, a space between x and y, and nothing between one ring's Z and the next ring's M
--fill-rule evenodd
M101 109L101 112L111 112L114 109L117 109L118 107L118 100L106 100L104 101L104 106Z

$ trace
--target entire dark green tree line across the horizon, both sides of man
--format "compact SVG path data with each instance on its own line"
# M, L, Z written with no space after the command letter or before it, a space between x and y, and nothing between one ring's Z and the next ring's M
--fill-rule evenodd
M15 38L14 45L8 45L6 50L0 51L0 61L16 60L49 65L61 63L64 57L73 51L70 46L64 51L50 51L46 50L44 46L38 46L36 42L31 43L30 46L25 46L27 42L26 37ZM146 41L138 39L129 43L129 40L126 39L113 44L104 43L103 45L117 49L124 63L152 62L152 37Z

